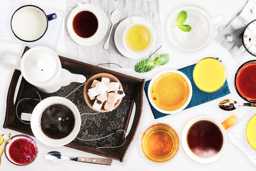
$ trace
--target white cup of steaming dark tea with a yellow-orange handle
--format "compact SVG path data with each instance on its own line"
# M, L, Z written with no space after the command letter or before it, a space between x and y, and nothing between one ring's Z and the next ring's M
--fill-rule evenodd
M189 120L181 134L181 144L189 158L198 163L218 160L227 147L226 129L238 121L232 115L222 123L209 116L198 116Z

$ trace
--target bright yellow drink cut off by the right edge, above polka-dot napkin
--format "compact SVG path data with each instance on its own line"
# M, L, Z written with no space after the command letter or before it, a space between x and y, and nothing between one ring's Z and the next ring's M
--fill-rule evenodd
M250 118L246 126L246 138L252 148L256 150L256 114Z

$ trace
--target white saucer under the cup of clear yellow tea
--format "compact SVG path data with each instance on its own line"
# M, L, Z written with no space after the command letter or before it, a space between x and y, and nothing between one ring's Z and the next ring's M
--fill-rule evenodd
M122 55L124 55L127 58L138 59L138 58L142 58L142 57L146 56L148 53L150 53L152 51L152 49L155 45L155 42L156 42L156 33L155 33L155 29L152 26L152 24L149 21L147 21L145 18L137 17L137 16L132 17L132 18L133 18L134 23L142 23L152 29L152 31L153 31L153 46L147 52L140 54L140 55L134 55L125 49L124 44L123 44L123 34L124 34L125 29L131 25L129 18L125 18L116 27L114 40L115 40L116 48Z

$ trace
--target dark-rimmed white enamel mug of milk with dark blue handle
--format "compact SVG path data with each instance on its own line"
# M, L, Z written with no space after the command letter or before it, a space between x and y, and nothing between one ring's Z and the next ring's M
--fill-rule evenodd
M57 18L55 13L46 15L35 5L25 5L18 8L11 19L13 34L24 42L34 42L44 36L48 21Z

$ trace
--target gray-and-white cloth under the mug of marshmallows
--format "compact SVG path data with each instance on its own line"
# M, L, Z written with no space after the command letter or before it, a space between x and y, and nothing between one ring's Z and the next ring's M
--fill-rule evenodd
M242 43L243 30L254 19L256 19L256 1L247 0L245 5L228 24L218 28L219 34L215 38L241 64L256 59L255 56L246 51ZM227 41L227 36L233 37L231 42Z

